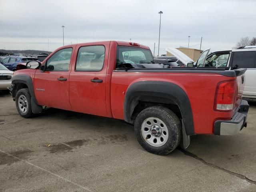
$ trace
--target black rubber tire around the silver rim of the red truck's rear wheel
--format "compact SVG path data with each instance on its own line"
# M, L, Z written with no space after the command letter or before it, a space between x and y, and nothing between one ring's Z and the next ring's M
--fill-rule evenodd
M166 143L162 146L152 146L142 136L142 123L150 117L159 118L166 124L169 134ZM181 128L180 120L176 114L162 106L152 106L142 110L136 117L134 124L134 132L140 145L148 152L157 155L169 154L180 144L182 137Z

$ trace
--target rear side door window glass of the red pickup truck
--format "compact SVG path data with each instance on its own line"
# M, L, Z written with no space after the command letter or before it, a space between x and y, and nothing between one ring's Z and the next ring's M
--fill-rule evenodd
M76 71L100 71L103 68L105 47L102 45L79 48Z

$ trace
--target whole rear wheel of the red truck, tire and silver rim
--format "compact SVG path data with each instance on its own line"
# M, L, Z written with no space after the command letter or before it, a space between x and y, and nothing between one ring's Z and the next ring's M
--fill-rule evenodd
M168 108L152 106L142 110L134 124L140 145L148 152L166 155L180 143L180 120Z

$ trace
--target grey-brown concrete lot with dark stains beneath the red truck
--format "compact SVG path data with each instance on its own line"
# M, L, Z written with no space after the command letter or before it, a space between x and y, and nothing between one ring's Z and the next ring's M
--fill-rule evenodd
M256 191L256 104L236 136L146 152L120 120L48 109L20 117L0 92L0 192Z

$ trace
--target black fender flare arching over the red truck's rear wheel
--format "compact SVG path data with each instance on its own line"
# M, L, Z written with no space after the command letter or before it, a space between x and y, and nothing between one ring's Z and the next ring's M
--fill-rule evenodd
M131 116L138 101L145 101L145 99L148 102L176 104L180 109L186 134L195 134L190 101L180 86L164 81L141 81L130 85L124 99L124 120L126 122L131 123Z

